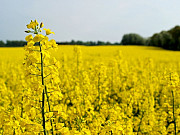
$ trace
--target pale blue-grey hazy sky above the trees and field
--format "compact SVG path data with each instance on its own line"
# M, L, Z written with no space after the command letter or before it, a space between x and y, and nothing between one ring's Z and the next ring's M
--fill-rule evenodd
M127 33L150 37L180 25L180 0L0 0L0 40L25 40L31 20L56 41L120 42Z

